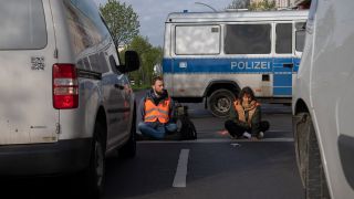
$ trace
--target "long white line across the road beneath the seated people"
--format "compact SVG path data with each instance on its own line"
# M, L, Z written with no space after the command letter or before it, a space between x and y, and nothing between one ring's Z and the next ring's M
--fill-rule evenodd
M230 138L198 138L196 140L143 140L138 144L180 144L180 143L292 143L294 138L292 137L280 137L280 138L263 138L260 140L250 139L230 139Z

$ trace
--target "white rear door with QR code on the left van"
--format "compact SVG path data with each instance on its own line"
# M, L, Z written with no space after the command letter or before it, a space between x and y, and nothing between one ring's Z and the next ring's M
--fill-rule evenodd
M58 140L49 1L0 0L0 145Z

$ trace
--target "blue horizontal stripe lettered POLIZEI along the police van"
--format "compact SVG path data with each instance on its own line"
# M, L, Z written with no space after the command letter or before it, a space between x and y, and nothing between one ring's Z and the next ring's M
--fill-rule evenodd
M164 73L273 73L296 72L299 67L283 67L300 59L164 59ZM294 63L295 65L295 63Z

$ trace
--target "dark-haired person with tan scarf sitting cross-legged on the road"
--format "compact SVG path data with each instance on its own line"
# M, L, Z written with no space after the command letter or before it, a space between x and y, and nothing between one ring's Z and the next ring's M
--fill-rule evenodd
M251 139L262 138L264 132L269 129L269 123L261 122L261 106L256 101L250 87L243 87L239 98L233 102L225 128L233 138L247 137Z

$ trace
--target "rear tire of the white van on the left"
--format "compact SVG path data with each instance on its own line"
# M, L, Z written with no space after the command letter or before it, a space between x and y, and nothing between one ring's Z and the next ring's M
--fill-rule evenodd
M84 184L90 198L100 198L105 182L105 142L104 128L95 124L88 168L85 170Z

